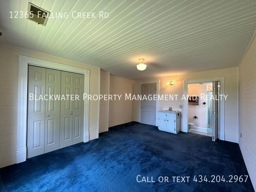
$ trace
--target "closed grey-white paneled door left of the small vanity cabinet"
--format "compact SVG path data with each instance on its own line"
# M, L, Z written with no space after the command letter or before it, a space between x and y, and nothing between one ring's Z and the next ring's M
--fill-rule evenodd
M141 96L156 94L156 83L142 84ZM141 100L141 123L156 125L156 100Z

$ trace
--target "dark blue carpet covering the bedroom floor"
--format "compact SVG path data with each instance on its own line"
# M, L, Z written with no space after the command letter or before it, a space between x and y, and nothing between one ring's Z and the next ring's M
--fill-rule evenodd
M143 180L143 176L147 181ZM195 182L206 175L211 182ZM52 151L0 169L0 191L254 191L246 182L217 182L217 175L248 175L238 144L193 133L174 135L130 122L87 143ZM160 182L168 177L169 182ZM173 177L186 177L174 182ZM189 179L187 179L189 177ZM158 179L160 178L160 181ZM242 177L243 180L245 177ZM204 179L204 178L202 178ZM143 180L144 181L144 180Z

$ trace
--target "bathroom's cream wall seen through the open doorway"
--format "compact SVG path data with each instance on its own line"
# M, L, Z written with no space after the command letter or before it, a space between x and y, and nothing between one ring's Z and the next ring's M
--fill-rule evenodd
M198 96L198 105L188 105L187 109L187 121L195 124L195 127L207 128L207 107L203 106L203 102L207 102L204 97L201 98L201 93L206 95L207 85L206 84L190 84L188 89L189 95ZM197 116L198 119L193 119Z

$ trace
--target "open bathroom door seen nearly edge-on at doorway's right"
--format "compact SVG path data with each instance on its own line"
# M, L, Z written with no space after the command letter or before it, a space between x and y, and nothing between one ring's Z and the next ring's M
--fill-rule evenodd
M216 141L219 137L219 82L218 81L213 81L213 97L214 99L212 100L213 102L213 109L212 109L212 141ZM216 99L217 98L217 99Z

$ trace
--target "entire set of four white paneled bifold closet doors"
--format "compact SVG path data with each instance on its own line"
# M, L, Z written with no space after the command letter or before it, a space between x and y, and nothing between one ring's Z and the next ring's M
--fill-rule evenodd
M83 90L82 74L28 66L28 158L83 141Z

